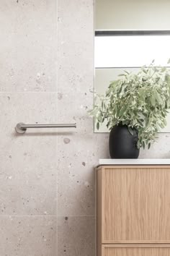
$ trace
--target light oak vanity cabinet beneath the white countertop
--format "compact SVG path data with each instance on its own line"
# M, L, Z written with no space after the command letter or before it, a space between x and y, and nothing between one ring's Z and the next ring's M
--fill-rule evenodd
M170 256L170 166L97 168L97 256Z

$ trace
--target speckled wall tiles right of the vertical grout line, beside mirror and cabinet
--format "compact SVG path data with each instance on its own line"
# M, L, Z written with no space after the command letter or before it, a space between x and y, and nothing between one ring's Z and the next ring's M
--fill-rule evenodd
M95 255L93 167L109 158L109 135L94 134L86 114L93 88L94 1L58 0L58 120L77 123L76 133L58 137L58 256ZM169 142L158 135L140 158L169 158Z

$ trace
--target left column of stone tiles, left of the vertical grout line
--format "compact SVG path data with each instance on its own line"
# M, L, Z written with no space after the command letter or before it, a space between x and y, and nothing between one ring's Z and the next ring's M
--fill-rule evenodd
M57 255L57 1L0 3L0 255Z

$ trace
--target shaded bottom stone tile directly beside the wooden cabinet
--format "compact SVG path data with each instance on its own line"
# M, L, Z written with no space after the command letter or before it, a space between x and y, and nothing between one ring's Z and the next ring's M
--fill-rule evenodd
M94 256L95 219L58 217L58 256Z

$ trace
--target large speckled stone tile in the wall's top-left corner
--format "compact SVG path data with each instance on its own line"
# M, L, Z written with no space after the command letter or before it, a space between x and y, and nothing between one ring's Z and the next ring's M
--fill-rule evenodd
M56 90L56 5L1 1L0 91Z

